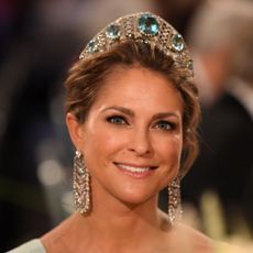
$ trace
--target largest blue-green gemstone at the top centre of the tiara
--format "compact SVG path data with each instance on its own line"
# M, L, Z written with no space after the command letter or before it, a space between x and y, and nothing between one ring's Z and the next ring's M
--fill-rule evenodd
M138 22L138 28L141 33L147 36L154 36L160 31L157 20L151 14L142 14Z

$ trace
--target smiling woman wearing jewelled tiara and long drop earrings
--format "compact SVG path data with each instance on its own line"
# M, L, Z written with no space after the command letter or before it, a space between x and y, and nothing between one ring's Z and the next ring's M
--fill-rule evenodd
M135 13L100 31L66 80L77 212L12 252L216 252L179 223L179 182L197 151L199 102L183 37ZM157 195L168 185L168 215Z

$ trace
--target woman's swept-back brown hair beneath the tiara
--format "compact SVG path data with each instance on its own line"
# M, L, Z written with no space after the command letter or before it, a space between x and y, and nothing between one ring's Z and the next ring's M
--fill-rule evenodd
M200 118L198 91L189 69L178 68L173 59L158 48L142 42L122 42L112 50L97 53L77 62L69 70L65 86L67 90L66 112L72 112L82 123L92 106L105 78L113 67L142 66L163 74L179 90L184 99L183 116L183 161L180 175L184 176L198 154L196 129Z

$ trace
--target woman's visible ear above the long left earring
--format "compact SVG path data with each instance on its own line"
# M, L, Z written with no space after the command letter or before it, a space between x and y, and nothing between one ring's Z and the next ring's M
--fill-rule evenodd
M68 112L66 116L66 124L76 150L81 150L84 144L84 130L81 128L82 124L80 124L76 117L70 112Z

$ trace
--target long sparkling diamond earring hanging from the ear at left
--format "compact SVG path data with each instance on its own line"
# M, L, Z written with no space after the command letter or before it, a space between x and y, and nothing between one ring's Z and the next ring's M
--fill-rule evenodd
M74 157L73 189L76 210L81 215L88 213L90 211L90 175L80 151L76 151Z

